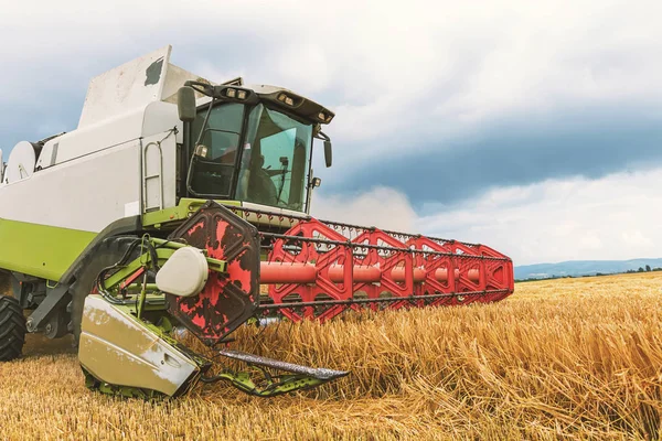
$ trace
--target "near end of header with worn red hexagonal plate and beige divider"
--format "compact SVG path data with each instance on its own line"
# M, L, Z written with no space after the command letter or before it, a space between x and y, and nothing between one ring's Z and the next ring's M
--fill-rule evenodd
M134 255L137 255L134 257ZM104 269L83 311L78 356L86 384L125 397L177 397L197 381L227 380L244 392L271 397L348 375L228 349L218 356L253 366L206 376L213 362L174 338L174 324L214 347L255 315L259 245L254 226L206 203L168 240L149 236Z

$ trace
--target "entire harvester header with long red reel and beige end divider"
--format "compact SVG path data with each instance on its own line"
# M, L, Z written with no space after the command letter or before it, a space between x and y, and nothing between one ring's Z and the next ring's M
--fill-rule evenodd
M290 228L258 232L246 218L274 232ZM137 256L127 251L99 275L100 295L85 304L79 348L90 384L121 394L178 396L199 380L228 380L269 397L348 374L222 348L214 358L244 362L261 379L229 369L207 375L212 361L178 343L175 324L217 347L252 318L323 322L348 310L492 302L513 292L512 261L483 245L212 201L168 239L145 236L132 249ZM260 293L260 283L268 293Z

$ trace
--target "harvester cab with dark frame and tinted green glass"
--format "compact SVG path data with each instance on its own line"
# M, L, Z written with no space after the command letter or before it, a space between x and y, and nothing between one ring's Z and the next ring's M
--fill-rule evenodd
M331 111L284 88L244 87L241 79L220 86L189 80L178 110L186 152L182 194L309 212L312 140L324 139L330 165L321 125L331 122Z

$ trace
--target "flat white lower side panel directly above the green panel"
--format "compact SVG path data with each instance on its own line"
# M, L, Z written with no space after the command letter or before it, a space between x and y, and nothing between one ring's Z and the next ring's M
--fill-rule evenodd
M154 185L145 193L149 201L142 201L141 154L159 142L162 158L149 158L162 163L162 179L150 182ZM174 206L175 149L174 133L166 131L41 170L0 186L0 217L98 233L141 214L146 202L154 208Z

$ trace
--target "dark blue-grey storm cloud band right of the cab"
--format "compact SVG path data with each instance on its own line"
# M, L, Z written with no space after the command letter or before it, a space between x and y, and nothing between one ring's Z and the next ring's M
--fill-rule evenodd
M469 140L426 143L402 157L375 155L325 190L389 186L420 207L451 205L498 186L652 168L662 163L662 115L643 106L564 111L544 121L524 115Z

